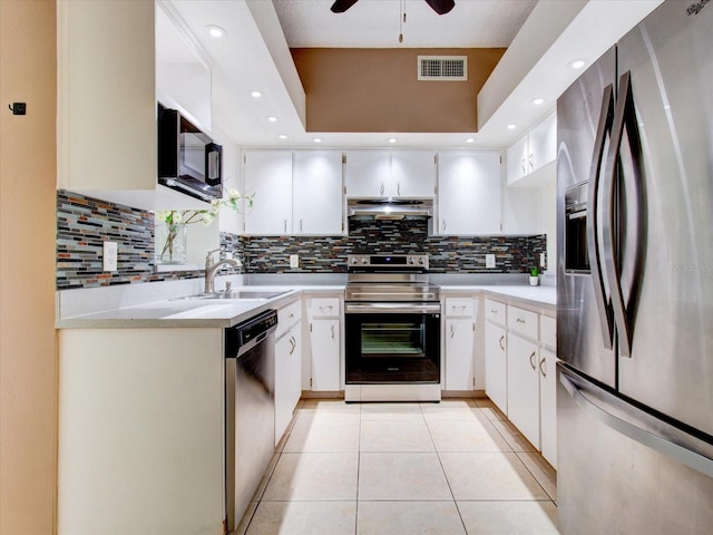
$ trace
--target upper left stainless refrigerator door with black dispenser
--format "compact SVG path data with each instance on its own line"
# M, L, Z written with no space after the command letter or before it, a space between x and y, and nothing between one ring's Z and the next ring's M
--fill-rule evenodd
M597 183L608 148L615 54L606 52L557 100L557 352L612 387L616 358L608 289L598 269L600 245L593 237L602 231ZM572 204L577 195L584 210L567 211L567 200Z

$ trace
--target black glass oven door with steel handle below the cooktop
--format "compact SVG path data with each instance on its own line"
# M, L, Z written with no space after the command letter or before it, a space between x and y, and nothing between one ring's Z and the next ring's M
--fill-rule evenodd
M439 383L440 303L346 303L346 385Z

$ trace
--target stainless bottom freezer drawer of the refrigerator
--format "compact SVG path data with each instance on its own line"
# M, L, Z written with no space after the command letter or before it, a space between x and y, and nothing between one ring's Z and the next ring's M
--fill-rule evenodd
M710 534L712 448L559 366L557 379L560 533Z

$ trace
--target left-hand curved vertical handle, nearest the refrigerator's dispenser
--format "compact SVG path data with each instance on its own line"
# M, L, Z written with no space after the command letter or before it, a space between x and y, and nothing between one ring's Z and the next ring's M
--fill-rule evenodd
M609 84L602 95L602 111L599 125L594 143L592 167L589 168L589 186L587 193L587 252L589 254L589 270L594 284L594 301L596 302L602 328L602 341L605 349L614 347L614 322L612 308L607 303L604 293L604 275L602 273L602 259L599 257L598 233L598 194L599 176L602 174L602 160L604 158L604 142L607 133L612 132L614 123L614 86Z

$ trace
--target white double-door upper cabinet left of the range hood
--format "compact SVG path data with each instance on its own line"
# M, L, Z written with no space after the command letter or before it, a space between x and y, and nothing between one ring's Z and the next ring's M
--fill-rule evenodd
M246 234L343 234L341 150L245 152L243 184Z

